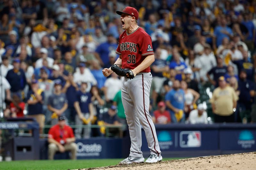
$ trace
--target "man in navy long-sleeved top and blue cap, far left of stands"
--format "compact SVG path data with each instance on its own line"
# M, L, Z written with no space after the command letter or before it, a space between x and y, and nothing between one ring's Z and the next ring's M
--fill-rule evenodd
M11 85L12 93L22 93L27 84L27 80L24 71L20 68L19 59L16 58L13 60L13 69L7 72L6 79Z

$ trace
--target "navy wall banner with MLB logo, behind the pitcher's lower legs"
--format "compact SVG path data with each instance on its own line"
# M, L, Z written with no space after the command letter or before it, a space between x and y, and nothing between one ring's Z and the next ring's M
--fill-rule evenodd
M161 151L217 150L218 130L156 130ZM142 131L141 151L148 151L145 132Z

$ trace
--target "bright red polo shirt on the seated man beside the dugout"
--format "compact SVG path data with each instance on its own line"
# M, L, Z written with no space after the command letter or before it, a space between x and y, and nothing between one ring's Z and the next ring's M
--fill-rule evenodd
M51 127L48 135L49 138L52 138L59 143L60 140L63 140L66 143L67 138L74 137L74 132L73 129L68 125L65 125L63 129L60 129L59 124L56 124Z

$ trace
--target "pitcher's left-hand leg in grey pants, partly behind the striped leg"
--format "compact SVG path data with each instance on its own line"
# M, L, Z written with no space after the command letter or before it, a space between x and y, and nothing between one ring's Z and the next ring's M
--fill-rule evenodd
M124 105L125 116L129 127L131 138L131 148L129 157L120 162L120 164L142 163L144 158L140 150L141 147L141 129L139 118L135 112L132 99L127 93L125 87L122 88L122 102ZM140 136L140 138L138 138Z

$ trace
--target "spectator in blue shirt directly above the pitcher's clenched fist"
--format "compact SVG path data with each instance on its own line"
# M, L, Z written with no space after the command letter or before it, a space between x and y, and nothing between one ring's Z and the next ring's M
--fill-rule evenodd
M108 54L112 50L116 50L117 43L112 33L107 34L108 41L100 44L95 50L95 56L99 60L100 65L103 66L108 63Z

